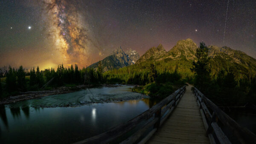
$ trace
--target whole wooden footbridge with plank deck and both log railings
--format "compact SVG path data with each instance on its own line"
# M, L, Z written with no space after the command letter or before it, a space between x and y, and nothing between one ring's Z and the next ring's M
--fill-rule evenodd
M231 142L256 144L256 135L239 126L198 89L192 92L191 86L183 86L130 121L76 144Z

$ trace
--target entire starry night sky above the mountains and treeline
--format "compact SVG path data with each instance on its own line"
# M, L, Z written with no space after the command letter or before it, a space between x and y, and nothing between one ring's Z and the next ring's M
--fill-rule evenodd
M256 58L256 0L0 0L0 66L89 66L187 38Z

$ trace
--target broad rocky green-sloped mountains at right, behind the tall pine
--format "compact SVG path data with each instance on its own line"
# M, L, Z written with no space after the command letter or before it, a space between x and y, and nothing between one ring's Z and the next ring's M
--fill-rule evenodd
M157 48L152 47L145 52L132 68L140 69L141 71L143 68L147 69L150 63L154 62L157 69L174 71L178 67L178 71L182 72L184 77L190 77L193 75L190 68L192 68L192 62L196 60L195 53L197 48L197 44L189 38L179 40L169 52L166 52L160 44ZM211 57L209 63L213 77L216 77L221 70L225 73L233 72L236 78L256 74L256 59L246 53L227 46L211 45L208 48L209 57ZM136 68L136 66L141 67Z

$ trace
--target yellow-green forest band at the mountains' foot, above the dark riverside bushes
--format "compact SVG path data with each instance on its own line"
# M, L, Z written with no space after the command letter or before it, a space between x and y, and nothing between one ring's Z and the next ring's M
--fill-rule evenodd
M174 82L177 79L175 78L177 75L180 79L192 81L194 74L190 71L190 68L189 61L183 60L146 61L107 71L103 76L107 83L138 85L145 85L154 81L161 81L162 83Z

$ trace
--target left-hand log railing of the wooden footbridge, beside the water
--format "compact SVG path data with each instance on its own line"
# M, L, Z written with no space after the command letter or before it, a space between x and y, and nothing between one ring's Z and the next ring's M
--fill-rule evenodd
M113 127L111 130L108 130L102 134L78 141L75 144L107 144L111 141L113 142L122 135L125 135L127 132L134 130L134 128L138 127L141 122L146 121L139 130L121 142L122 144L133 144L140 140L138 143L144 144L163 124L163 121L165 121L166 118L172 113L173 109L180 101L180 98L183 96L185 90L186 86L183 86L160 101L158 104L154 105L130 121L120 124L117 127Z

